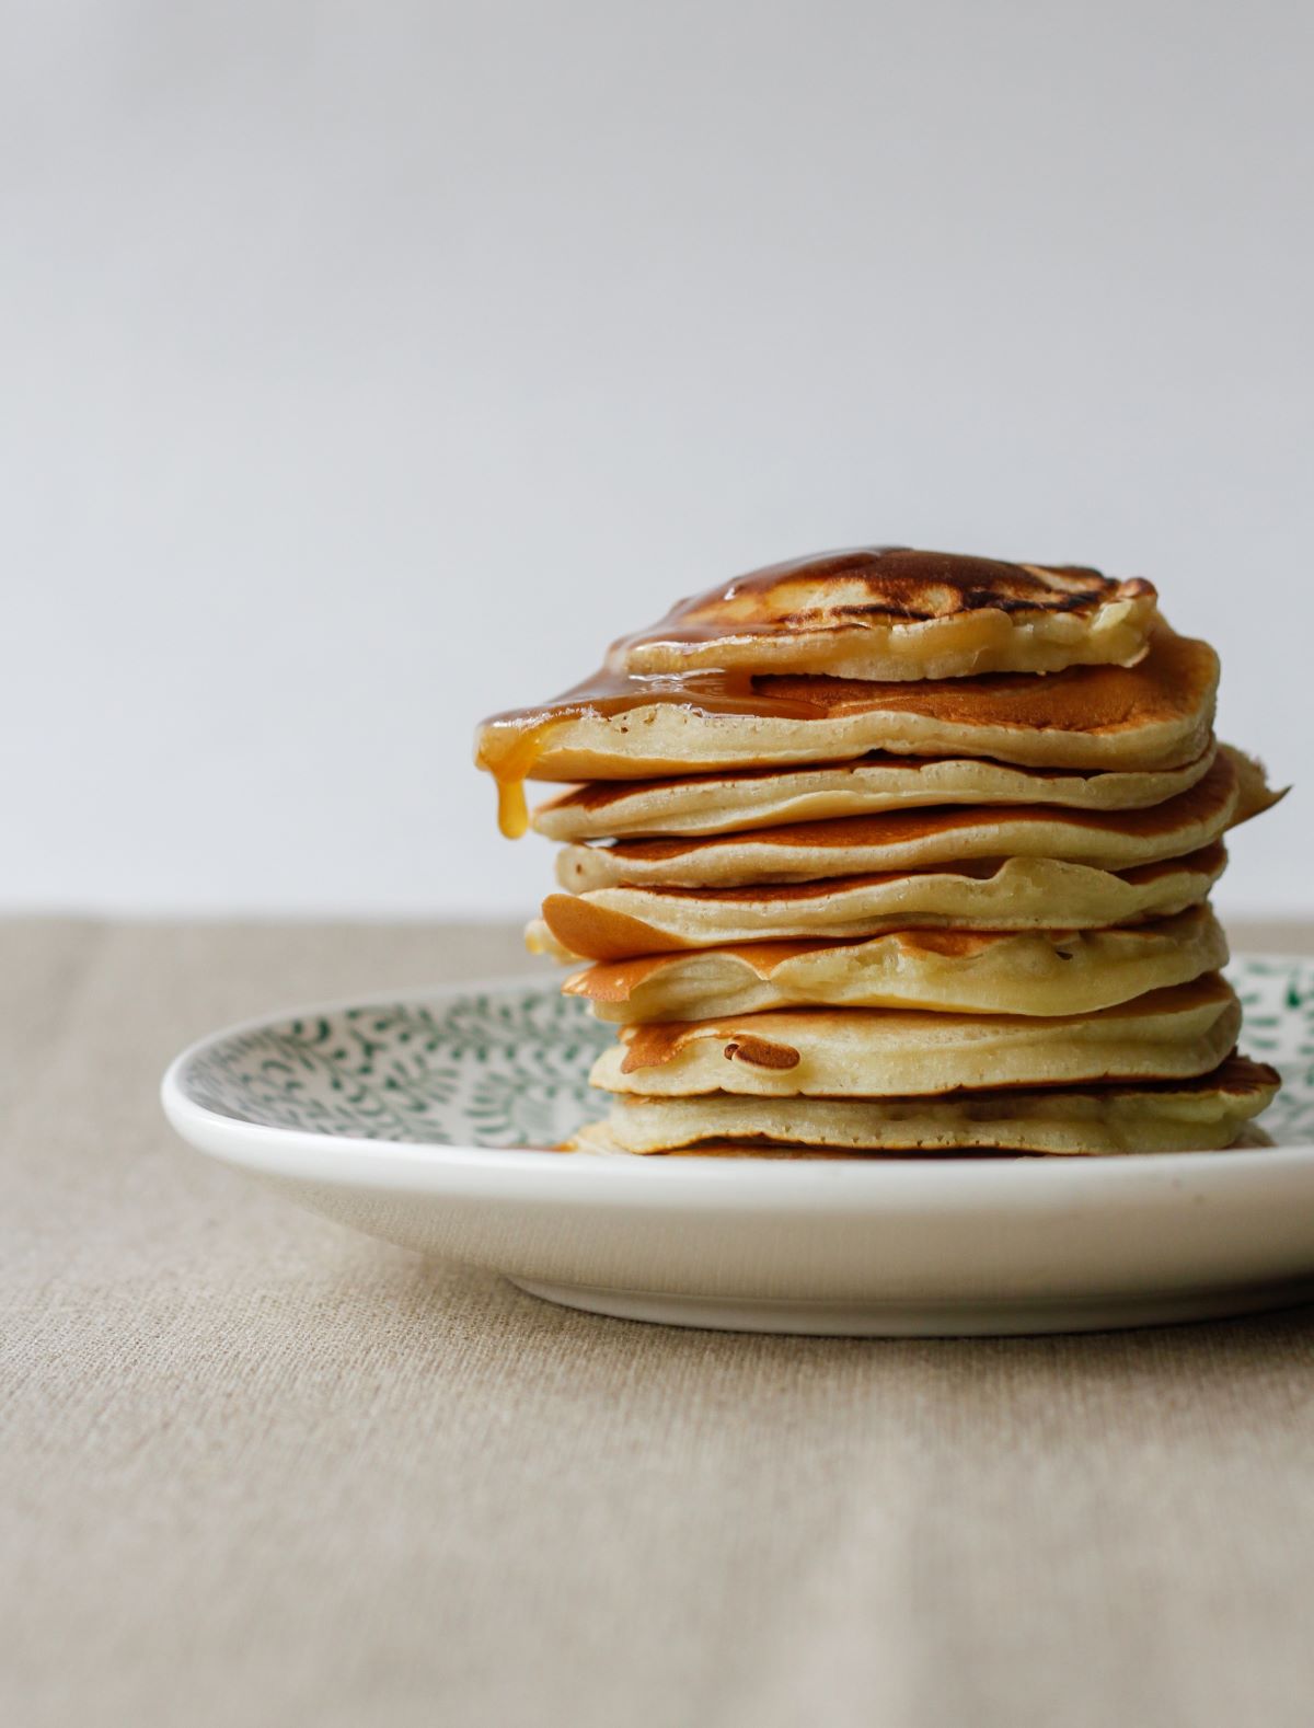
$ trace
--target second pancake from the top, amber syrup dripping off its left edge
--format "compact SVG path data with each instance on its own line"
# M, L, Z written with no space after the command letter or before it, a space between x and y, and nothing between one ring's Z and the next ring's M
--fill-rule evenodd
M1048 677L861 683L842 677L600 672L553 702L486 721L475 762L500 786L505 833L527 826L526 779L654 779L842 762L882 750L1022 767L1176 769L1209 746L1219 662L1158 626L1134 667Z

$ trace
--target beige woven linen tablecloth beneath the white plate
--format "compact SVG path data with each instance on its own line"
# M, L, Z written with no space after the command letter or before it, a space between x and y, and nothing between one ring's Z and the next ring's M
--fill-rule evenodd
M1314 1718L1314 1312L882 1343L550 1308L156 1104L211 1026L519 971L513 931L0 943L14 1728Z

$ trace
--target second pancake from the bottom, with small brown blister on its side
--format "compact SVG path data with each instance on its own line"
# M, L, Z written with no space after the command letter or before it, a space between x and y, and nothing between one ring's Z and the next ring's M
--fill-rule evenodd
M590 1080L605 1092L690 1097L901 1097L961 1087L1183 1080L1209 1073L1241 1028L1219 973L1096 1014L927 1014L795 1007L622 1026Z

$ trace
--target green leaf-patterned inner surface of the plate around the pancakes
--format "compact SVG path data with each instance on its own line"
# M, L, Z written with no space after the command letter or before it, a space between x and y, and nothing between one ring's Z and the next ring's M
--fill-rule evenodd
M1281 1070L1264 1116L1314 1144L1314 961L1240 959L1241 1047ZM325 1009L206 1045L182 1083L221 1116L417 1146L553 1146L600 1115L593 1058L614 1039L552 980Z

